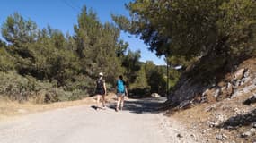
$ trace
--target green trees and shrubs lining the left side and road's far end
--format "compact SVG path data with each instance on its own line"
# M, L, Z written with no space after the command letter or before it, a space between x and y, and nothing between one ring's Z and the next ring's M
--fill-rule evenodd
M101 23L86 6L78 15L74 35L50 26L40 29L20 13L6 18L1 34L2 97L50 103L93 96L101 71L109 91L123 74L131 93L166 92L166 68L139 62L140 51L128 50L128 43L119 37L120 29L114 23Z

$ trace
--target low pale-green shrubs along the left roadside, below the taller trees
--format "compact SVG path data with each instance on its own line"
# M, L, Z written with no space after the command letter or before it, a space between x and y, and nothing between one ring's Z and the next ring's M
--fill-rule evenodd
M32 100L35 103L51 103L57 101L68 101L87 97L86 90L65 90L58 88L53 81L40 81L31 76L23 77L16 72L0 71L0 95L12 100L24 102Z

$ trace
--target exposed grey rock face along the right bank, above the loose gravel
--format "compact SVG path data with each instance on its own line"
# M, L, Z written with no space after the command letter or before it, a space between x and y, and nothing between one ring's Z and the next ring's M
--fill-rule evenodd
M231 78L211 85L195 82L191 78L183 76L177 84L176 90L168 96L167 103L172 107L186 108L194 102L215 102L256 90L256 74L251 73L249 69L242 68L230 74ZM244 104L256 102L256 96L248 100L250 101L246 101Z

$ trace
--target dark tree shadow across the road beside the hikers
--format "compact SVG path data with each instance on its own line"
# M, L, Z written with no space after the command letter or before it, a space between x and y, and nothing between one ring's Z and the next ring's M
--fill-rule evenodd
M125 101L123 110L134 114L159 113L160 111L158 108L163 104L165 100L165 97L129 99ZM115 110L116 103L110 103L108 107Z

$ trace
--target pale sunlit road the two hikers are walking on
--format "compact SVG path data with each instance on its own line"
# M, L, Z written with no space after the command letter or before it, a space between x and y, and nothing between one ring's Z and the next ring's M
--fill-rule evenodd
M154 113L163 101L128 99L124 111L118 113L109 104L106 110L81 105L30 114L13 122L1 122L0 143L175 142L163 129L161 121L165 117Z

